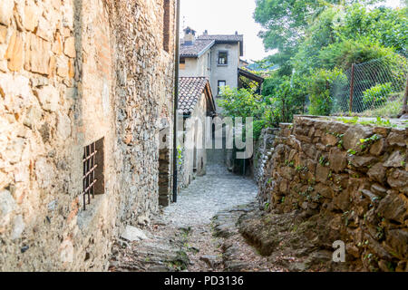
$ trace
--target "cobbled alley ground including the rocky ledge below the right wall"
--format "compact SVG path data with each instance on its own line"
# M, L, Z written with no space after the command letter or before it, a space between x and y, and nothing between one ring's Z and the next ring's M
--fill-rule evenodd
M207 174L136 236L112 249L110 271L344 271L307 238L307 222L257 206L253 179L228 171L209 152ZM296 218L297 217L297 218ZM262 254L262 255L261 255Z

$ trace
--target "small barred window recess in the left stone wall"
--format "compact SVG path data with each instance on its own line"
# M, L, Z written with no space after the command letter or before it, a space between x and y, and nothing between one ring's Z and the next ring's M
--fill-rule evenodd
M104 191L103 138L83 148L83 210Z

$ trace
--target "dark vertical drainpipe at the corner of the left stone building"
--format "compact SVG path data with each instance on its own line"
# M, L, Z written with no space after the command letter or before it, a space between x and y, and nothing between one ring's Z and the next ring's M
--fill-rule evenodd
M180 0L176 0L176 52L174 56L174 121L173 121L173 202L177 202L177 117L179 110L180 65Z

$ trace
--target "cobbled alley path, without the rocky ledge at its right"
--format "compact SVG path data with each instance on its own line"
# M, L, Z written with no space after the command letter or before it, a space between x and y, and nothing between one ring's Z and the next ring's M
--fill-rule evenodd
M178 202L143 228L146 237L115 245L111 271L270 270L235 226L255 207L257 185L229 172L222 154L209 151L207 174L180 190Z

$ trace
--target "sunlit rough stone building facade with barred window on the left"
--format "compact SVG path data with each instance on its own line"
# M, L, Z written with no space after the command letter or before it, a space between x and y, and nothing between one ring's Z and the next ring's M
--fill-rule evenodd
M158 210L175 27L174 0L0 2L0 271L106 269Z

